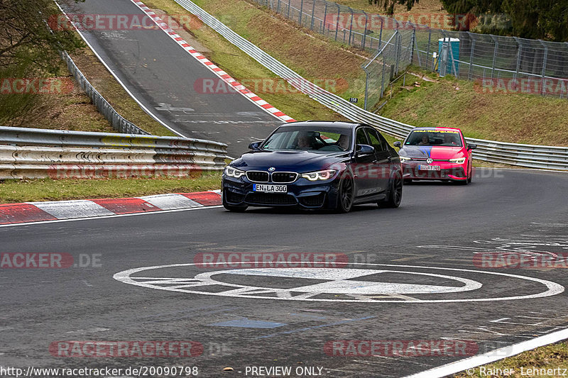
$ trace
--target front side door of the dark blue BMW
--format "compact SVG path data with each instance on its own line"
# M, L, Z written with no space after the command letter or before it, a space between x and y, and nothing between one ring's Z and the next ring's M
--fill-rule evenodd
M364 127L355 130L355 148L356 145L371 145ZM355 152L355 164L353 169L356 196L369 196L376 194L376 179L373 177L373 167L375 165L375 154L359 155Z

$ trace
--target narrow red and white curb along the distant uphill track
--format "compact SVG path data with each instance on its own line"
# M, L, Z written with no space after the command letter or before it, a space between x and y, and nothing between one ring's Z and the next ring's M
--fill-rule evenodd
M155 22L155 24L158 25L158 27L162 29L165 33L167 33L170 36L170 38L175 40L175 42L178 43L178 45L180 45L186 52L188 52L192 57L195 57L195 59L201 62L205 67L209 68L209 70L211 70L224 82L226 82L231 87L233 87L240 94L242 94L247 99L252 101L253 104L260 106L262 109L268 111L268 113L271 113L276 118L280 118L282 121L286 122L296 121L294 118L287 116L285 113L279 111L271 104L268 104L268 102L261 99L260 96L257 96L252 91L249 91L249 89L246 89L246 87L243 84L237 82L233 77L231 77L229 74L224 72L221 68L214 65L213 62L211 62L206 57L204 57L200 52L195 50L195 48L192 48L192 46L189 43L187 43L182 37L180 37L178 33L175 33L175 31L172 28L170 28L167 23L163 22L162 19L150 8L148 8L148 6L143 4L142 1L138 0L131 0L131 1L134 4L136 4L136 6L138 6L138 8L140 8L144 13L150 16L150 18Z

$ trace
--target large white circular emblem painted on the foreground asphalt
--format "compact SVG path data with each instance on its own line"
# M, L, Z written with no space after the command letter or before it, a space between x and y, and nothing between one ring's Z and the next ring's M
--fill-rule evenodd
M184 277L133 277L133 274L146 272L155 269L176 268L176 267L192 267L197 264L172 264L157 265L153 267L141 267L125 270L114 274L113 278L125 284L132 284L151 289L159 289L166 291L177 291L187 294L200 294L211 296L228 296L233 298L249 298L249 299L279 299L285 301L324 301L324 302L367 302L367 303L451 303L451 302L481 302L481 301L510 301L515 299L533 299L545 296L553 296L564 292L564 287L555 282L537 279L534 277L525 277L517 274L486 272L472 269L456 269L444 267L419 267L415 265L388 265L388 264L371 264L371 263L352 263L351 265L365 265L376 267L397 267L412 269L432 269L449 272L468 272L475 274L489 274L493 276L508 277L512 279L523 279L530 282L542 284L546 289L535 294L520 296L504 296L495 298L466 298L466 299L416 299L410 297L413 294L447 294L464 291L474 291L482 287L480 282L462 277L448 276L434 273L410 272L407 270L393 269L327 269L327 268L264 268L264 269L230 269L217 270L214 272L204 272L195 275L193 278ZM410 274L427 277L435 277L438 279L449 279L459 283L459 286L441 286L430 284L405 284L391 282L374 282L365 280L356 280L359 277L370 276L381 273ZM275 288L275 287L256 287L246 284L233 284L222 282L213 277L218 274L233 274L244 277L275 277L288 279L315 279L316 284L305 285L292 288ZM324 281L324 282L321 282ZM203 291L206 287L226 287L224 291ZM196 290L197 289L197 290ZM544 288L543 288L544 289ZM294 294L293 294L294 293ZM300 294L295 294L300 293ZM342 294L353 296L354 299L328 299L315 298L318 295L325 294ZM378 296L378 297L372 297ZM390 296L385 299L384 296Z

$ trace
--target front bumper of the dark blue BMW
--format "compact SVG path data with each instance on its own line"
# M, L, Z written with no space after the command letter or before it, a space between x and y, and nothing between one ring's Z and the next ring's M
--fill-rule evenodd
M337 206L339 175L334 179L312 182L299 178L291 184L267 182L262 184L286 185L287 193L253 191L253 182L245 176L235 179L223 175L222 195L227 204L234 206L299 206L304 209L334 209Z

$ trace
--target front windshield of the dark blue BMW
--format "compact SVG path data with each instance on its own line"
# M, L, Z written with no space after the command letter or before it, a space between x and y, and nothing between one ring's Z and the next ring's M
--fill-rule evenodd
M349 128L280 127L261 145L262 150L342 152L351 148Z

